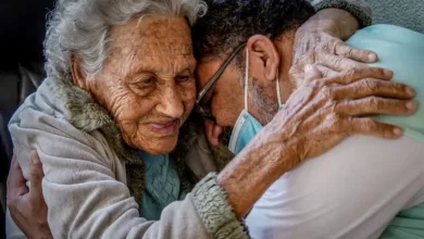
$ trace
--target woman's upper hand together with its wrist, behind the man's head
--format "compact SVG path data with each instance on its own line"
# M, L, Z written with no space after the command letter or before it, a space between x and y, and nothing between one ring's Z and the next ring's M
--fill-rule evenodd
M348 12L326 9L308 20L296 33L295 54L289 71L294 86L304 78L304 66L320 64L324 76L331 72L369 67L365 63L377 61L377 54L345 45L358 29L358 21Z

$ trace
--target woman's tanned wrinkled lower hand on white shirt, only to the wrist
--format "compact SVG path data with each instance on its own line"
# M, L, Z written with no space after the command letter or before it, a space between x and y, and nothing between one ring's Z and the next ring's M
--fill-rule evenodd
M370 67L322 78L315 66L310 68L303 85L290 96L285 109L259 134L258 141L262 144L274 141L275 146L270 147L284 146L285 172L350 135L397 138L402 135L400 128L363 116L410 115L416 110L416 103L410 101L414 97L413 89L389 81L390 71Z

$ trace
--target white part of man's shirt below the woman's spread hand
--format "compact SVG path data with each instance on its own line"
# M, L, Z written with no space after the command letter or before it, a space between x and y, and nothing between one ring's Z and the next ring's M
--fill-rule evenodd
M424 142L352 136L276 180L247 218L255 239L377 238L424 201Z

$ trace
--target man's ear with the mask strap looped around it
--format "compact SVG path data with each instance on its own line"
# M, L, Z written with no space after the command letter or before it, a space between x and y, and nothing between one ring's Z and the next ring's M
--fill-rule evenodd
M249 72L258 79L275 80L279 67L279 54L274 42L263 35L249 38Z

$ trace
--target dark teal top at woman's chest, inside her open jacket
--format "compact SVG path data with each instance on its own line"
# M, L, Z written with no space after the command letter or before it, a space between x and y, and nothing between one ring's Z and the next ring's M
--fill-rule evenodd
M162 210L180 199L178 174L170 155L152 155L140 152L146 165L146 187L140 215L148 221L158 221Z

